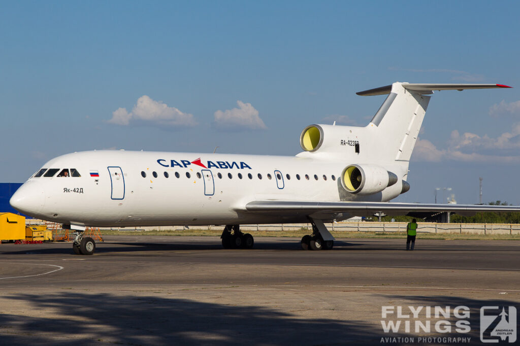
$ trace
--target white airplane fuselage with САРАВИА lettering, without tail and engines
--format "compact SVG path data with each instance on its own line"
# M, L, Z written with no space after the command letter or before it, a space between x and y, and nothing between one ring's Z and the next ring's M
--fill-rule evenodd
M340 182L350 163L356 162L305 155L85 151L47 162L43 168L58 173L29 178L11 204L30 216L73 225L221 225L307 222L298 213L246 212L245 204L257 200L384 202L400 194L407 166L385 167L397 174L398 184L357 196ZM58 176L63 169L81 176ZM349 216L331 214L330 219Z

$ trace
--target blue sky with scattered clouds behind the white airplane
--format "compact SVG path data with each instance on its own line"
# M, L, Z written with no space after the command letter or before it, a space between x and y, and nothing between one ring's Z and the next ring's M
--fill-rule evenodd
M398 201L520 204L517 2L0 1L0 182L125 148L295 155L311 123L365 125L408 82L437 92ZM115 112L115 113L114 113ZM115 115L115 117L114 117ZM441 200L443 193L439 193Z

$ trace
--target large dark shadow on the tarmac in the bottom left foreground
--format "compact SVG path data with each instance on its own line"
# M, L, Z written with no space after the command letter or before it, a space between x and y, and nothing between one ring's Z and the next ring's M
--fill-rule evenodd
M189 299L59 292L16 294L52 317L0 314L3 344L379 344L379 330L361 321L302 319L261 306ZM4 300L5 303L8 303ZM79 322L81 321L81 322ZM4 329L5 330L5 329ZM94 335L95 337L92 337ZM370 342L372 341L372 342Z

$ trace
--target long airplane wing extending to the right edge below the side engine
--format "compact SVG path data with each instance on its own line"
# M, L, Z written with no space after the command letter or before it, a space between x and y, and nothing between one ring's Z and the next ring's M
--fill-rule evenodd
M352 213L406 215L417 212L458 212L474 214L478 212L520 212L517 205L481 205L481 204L422 204L393 202L307 202L307 201L253 201L245 205L248 212L295 212L298 214L314 213Z

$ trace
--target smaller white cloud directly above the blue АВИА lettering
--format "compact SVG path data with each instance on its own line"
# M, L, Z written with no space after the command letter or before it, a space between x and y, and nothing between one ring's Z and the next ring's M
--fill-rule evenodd
M213 126L220 130L263 130L267 129L251 103L237 101L239 108L217 110Z

